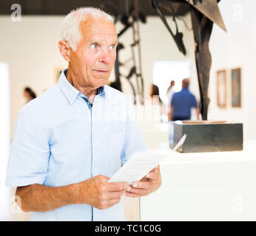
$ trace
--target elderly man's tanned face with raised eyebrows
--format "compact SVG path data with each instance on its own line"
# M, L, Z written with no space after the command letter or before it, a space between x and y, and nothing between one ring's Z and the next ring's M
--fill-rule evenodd
M81 24L81 34L75 52L70 52L70 68L76 83L97 89L107 84L115 63L115 26L104 18L89 18Z

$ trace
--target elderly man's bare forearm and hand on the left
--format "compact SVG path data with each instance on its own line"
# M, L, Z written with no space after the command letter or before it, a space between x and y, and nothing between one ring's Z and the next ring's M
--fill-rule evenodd
M49 187L31 184L17 187L24 212L46 212L70 204L89 204L98 209L107 209L117 204L129 184L107 183L110 178L95 176L75 184Z

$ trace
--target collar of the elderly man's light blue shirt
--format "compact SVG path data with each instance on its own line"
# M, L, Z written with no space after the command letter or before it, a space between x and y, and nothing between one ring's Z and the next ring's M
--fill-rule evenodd
M61 75L58 79L58 86L60 87L61 91L64 93L70 105L73 105L78 95L81 95L81 97L86 97L86 96L82 94L81 91L78 91L77 89L75 89L74 86L72 86L72 84L67 80L66 74L67 74L67 69L64 69L61 72ZM97 89L97 95L104 94L104 92L105 92L104 86L101 86Z

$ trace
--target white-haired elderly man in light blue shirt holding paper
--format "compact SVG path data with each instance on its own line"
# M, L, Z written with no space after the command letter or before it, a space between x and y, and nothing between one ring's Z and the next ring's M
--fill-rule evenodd
M121 196L148 195L161 175L158 166L132 186L107 182L132 153L146 150L128 97L106 86L115 26L86 7L66 16L61 33L68 69L18 112L7 186L17 187L32 221L124 221Z

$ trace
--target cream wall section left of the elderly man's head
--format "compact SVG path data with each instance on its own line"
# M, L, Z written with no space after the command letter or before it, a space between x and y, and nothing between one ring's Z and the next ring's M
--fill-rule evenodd
M11 131L25 103L24 87L30 86L41 94L53 86L55 66L66 64L58 52L61 20L22 16L21 22L13 22L10 16L0 17L0 61L7 62L10 68Z

